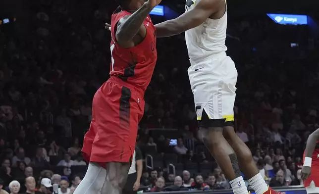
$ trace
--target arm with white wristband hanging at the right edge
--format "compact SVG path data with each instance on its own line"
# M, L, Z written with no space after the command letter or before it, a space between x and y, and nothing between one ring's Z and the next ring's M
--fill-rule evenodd
M318 141L319 141L319 129L317 129L312 134L310 134L307 140L307 145L305 149L304 166L302 167L302 170L301 170L301 178L303 180L306 180L311 174L312 156Z

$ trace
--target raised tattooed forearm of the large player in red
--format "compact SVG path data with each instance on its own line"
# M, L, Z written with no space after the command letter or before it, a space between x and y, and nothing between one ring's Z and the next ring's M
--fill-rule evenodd
M121 42L130 41L139 32L143 21L152 11L151 6L144 3L141 8L130 15L123 23L120 24L116 31L116 38Z

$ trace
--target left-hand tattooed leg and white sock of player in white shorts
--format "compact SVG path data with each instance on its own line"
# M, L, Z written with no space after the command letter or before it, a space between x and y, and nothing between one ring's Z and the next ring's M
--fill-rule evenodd
M215 158L217 164L225 174L226 178L230 180L230 185L234 194L247 194L247 188L243 177L240 176L240 169L237 162L236 154L228 142L223 137L223 123L224 119L210 120L207 114L203 111L203 120L199 121L199 139L210 150ZM209 127L220 126L220 127Z

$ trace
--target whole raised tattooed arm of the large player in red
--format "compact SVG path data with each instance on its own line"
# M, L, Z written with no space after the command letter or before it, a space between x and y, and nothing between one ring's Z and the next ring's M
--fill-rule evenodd
M145 37L146 27L142 25L143 21L160 1L161 0L148 0L132 15L121 18L118 21L115 33L116 41L120 45L125 45L127 42L131 41L137 33L139 33L140 36Z

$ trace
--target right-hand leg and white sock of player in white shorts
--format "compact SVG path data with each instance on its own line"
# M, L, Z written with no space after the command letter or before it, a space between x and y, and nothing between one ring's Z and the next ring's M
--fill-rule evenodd
M224 127L223 135L235 151L240 169L244 173L245 177L249 179L249 184L253 187L256 194L264 194L270 190L264 180L264 177L259 173L257 165L253 159L252 152L237 136L234 127Z

